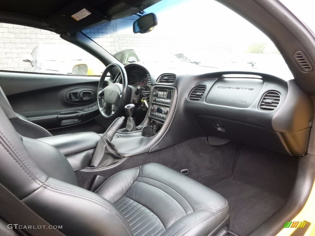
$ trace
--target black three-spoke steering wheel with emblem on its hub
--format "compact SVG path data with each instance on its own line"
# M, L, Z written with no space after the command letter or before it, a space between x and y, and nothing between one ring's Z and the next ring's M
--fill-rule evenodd
M120 70L120 74L122 76L123 84L120 83L110 83L104 87L104 81L108 74L108 72L113 68L117 67ZM127 73L123 65L118 63L112 63L106 66L104 72L100 76L100 82L98 86L98 97L97 97L97 105L100 110L100 114L106 120L112 120L117 117L118 113L123 110L124 105L127 101L128 96L128 81L127 81ZM105 103L102 104L102 97L104 97ZM111 110L111 114L107 115L106 112Z

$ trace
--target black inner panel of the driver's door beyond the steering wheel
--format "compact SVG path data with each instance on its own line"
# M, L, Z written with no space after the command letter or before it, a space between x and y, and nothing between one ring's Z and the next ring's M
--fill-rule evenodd
M98 82L98 76L0 73L0 86L13 110L58 134L105 131L109 122L94 119L100 114L96 104Z

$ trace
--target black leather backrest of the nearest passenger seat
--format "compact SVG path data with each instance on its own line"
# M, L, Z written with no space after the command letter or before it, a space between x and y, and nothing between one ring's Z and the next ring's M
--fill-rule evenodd
M21 137L1 108L0 121L0 182L15 196L66 235L133 235L109 201L76 186L64 155Z

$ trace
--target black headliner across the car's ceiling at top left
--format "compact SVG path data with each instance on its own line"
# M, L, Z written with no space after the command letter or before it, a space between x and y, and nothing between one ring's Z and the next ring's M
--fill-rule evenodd
M160 0L0 0L0 21L29 25L60 33L75 32L140 12ZM76 21L83 8L92 14Z

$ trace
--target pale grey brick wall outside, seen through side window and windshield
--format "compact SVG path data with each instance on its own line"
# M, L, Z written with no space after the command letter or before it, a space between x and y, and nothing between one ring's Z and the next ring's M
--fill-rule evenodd
M171 53L182 53L191 48L192 41L185 38L169 39L148 34L117 34L117 21L108 22L84 33L110 53L133 47L153 47ZM30 55L40 43L67 43L59 35L27 26L0 23L0 70L24 71L27 62L22 59ZM195 39L194 51L231 52L231 46L221 42Z

